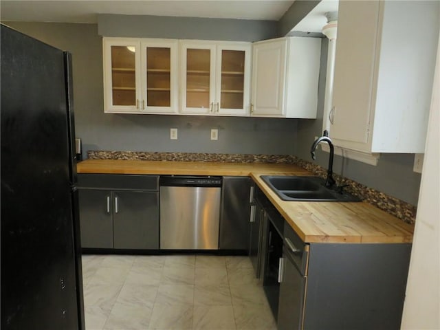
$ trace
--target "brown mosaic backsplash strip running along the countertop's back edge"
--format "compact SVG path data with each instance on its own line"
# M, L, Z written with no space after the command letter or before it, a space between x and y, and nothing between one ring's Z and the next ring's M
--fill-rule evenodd
M89 159L122 159L122 160L151 160L168 162L228 162L228 163L272 163L294 164L309 170L320 177L326 177L327 170L314 163L292 155L242 155L218 153L148 153L142 151L88 151ZM410 203L385 195L383 192L359 184L356 181L333 174L339 186L347 185L344 189L360 199L394 215L406 223L415 223L417 208Z

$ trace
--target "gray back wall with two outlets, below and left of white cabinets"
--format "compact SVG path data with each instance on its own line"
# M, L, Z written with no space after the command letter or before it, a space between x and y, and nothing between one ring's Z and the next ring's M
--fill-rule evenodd
M83 151L292 154L297 120L104 113L102 39L94 24L6 22L73 56L76 135ZM179 140L170 140L177 128ZM210 140L210 129L219 140Z

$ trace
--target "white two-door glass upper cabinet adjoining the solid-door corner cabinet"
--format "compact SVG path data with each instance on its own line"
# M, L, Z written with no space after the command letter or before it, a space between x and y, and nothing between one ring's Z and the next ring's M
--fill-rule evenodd
M181 113L247 115L250 43L181 42Z

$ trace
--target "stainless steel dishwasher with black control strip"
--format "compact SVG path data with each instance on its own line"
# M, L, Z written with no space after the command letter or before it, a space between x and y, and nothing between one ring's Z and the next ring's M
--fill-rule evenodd
M161 249L219 248L221 181L221 177L160 177Z

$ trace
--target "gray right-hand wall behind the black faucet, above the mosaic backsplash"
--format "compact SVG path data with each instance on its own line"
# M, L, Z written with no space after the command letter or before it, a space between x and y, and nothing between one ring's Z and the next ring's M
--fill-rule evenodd
M322 113L324 109L325 72L327 69L328 39L322 39L320 85L318 94L318 119L298 120L298 143L296 153L300 158L313 162L310 146L316 136L322 135ZM316 164L327 168L329 153L316 151ZM417 205L421 175L412 171L413 154L382 153L377 166L371 166L353 159L335 156L333 172L361 184L385 192L388 195Z

